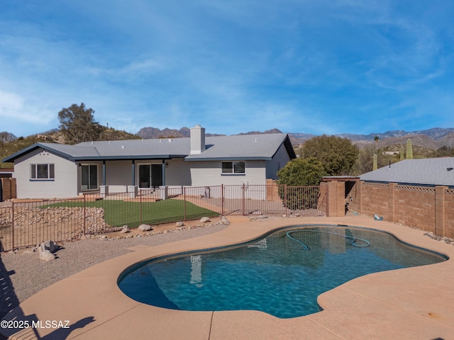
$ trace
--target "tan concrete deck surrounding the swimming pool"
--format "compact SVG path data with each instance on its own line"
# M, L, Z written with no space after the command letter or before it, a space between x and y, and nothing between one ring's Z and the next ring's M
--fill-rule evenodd
M424 237L421 230L365 216L228 220L231 225L221 232L160 246L135 246L129 254L65 278L23 301L5 317L11 323L39 327L3 327L0 334L10 339L77 340L454 339L453 245ZM166 310L132 300L117 285L118 276L128 266L144 259L236 244L278 227L309 224L384 230L410 244L446 254L450 260L356 278L320 295L322 312L293 319L257 311Z

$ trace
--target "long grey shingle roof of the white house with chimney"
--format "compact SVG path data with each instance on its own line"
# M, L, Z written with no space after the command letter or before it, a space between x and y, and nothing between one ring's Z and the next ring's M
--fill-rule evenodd
M90 159L170 159L221 160L221 159L272 159L284 144L290 158L295 158L289 136L283 133L261 135L235 135L206 137L206 149L201 154L190 154L190 138L153 140L112 140L82 142L77 145L35 143L6 157L2 162L14 162L18 157L43 148L70 160Z

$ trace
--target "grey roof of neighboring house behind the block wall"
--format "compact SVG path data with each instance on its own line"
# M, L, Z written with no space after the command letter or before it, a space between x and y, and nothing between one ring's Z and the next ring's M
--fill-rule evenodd
M362 174L360 181L454 186L454 157L405 159Z

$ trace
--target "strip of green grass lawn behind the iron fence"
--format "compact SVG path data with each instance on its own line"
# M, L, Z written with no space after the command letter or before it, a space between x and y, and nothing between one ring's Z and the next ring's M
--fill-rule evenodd
M140 206L141 205L141 206ZM186 205L186 212L185 212ZM52 205L43 205L41 208L83 207L84 202L67 201ZM158 225L160 223L194 220L200 217L213 217L218 212L201 208L184 200L159 200L157 202L123 202L123 200L96 200L87 201L87 208L103 208L104 220L111 227L128 225L138 227L140 223Z

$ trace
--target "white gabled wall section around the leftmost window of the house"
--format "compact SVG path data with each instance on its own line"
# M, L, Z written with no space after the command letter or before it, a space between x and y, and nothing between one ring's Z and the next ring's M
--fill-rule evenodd
M54 164L55 179L32 180L31 164ZM36 149L14 162L18 198L71 198L77 196L77 165L44 149Z

